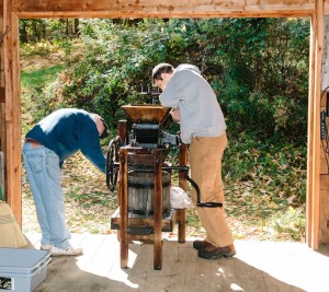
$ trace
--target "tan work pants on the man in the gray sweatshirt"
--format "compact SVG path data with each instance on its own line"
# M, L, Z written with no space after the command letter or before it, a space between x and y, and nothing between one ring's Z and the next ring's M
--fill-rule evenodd
M226 133L220 137L195 137L189 149L191 178L201 191L201 201L223 202L222 157L227 147ZM207 236L214 246L223 247L234 243L230 229L225 218L224 207L196 207L196 191L192 189L192 201Z

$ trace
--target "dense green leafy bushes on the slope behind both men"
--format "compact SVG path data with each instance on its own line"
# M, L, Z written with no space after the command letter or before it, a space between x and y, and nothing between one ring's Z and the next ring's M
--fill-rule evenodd
M140 100L156 63L191 62L218 94L231 135L305 141L308 25L302 19L83 20L87 50L68 72L65 94L77 106L106 107L115 122L120 105Z

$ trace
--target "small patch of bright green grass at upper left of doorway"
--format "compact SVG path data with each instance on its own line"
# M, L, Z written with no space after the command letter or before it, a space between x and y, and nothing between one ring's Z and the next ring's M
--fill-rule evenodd
M29 70L21 72L21 86L43 86L57 78L57 74L66 68L65 63L55 65L48 68Z

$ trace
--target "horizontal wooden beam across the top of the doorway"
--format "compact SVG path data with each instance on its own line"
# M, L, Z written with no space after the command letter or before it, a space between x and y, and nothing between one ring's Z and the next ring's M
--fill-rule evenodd
M263 17L302 16L315 0L12 0L20 17Z

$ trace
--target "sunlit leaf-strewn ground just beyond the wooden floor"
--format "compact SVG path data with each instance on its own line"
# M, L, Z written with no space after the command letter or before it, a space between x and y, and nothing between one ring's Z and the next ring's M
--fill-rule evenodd
M173 178L175 179L175 178ZM270 179L269 179L270 180ZM70 157L63 170L67 225L72 233L112 234L111 215L117 208L116 192L105 185L105 176L81 153ZM23 231L39 232L35 207L25 174L23 190ZM252 180L230 183L226 186L227 221L237 240L298 241L305 236L304 206L290 207L296 197L285 199L284 190L273 199L266 188ZM177 227L169 237L177 236ZM194 209L188 210L186 233L204 237Z

